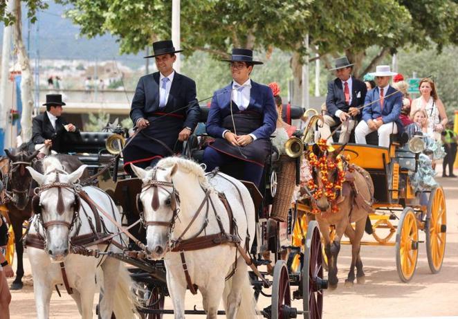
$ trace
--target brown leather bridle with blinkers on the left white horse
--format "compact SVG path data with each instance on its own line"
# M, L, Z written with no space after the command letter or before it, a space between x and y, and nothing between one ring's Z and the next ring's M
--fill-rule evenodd
M78 212L80 211L81 199L80 199L80 195L78 194L78 192L80 191L80 186L74 185L71 183L59 182L59 171L53 170L51 172L48 172L48 174L53 173L53 172L55 172L56 174L54 183L43 185L39 188L35 188L34 190L35 196L32 199L33 211L35 212L35 215L40 216L39 221L45 230L49 226L53 226L53 225L63 225L63 226L66 226L68 230L71 230L71 228L73 228L73 224L75 224L75 221L77 219ZM60 173L66 174L66 172L63 172L63 171L60 171ZM62 199L62 188L65 188L66 190L73 192L75 196L75 201L73 202L73 216L72 216L72 220L70 223L68 223L68 221L59 221L59 220L46 221L46 223L44 222L43 216L42 216L42 205L40 203L40 195L45 190L49 190L51 188L57 188L57 214L59 215L64 214L64 210L65 210L64 199Z

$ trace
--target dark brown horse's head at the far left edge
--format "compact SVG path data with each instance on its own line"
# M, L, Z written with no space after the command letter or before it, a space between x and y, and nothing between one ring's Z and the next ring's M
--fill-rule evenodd
M32 176L26 170L26 167L32 165L32 160L38 154L38 151L28 154L19 152L13 154L5 149L5 154L10 158L10 185L14 204L18 210L24 210L29 200L29 190L32 184Z

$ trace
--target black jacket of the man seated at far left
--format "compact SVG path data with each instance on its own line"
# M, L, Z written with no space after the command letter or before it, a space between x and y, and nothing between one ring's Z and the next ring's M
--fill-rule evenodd
M74 132L66 131L64 125L68 122L59 116L55 121L55 129L48 118L46 111L39 116L35 116L32 126L33 144L43 144L44 140L53 141L53 149L57 153L65 153L71 150L71 144L81 140L79 129Z

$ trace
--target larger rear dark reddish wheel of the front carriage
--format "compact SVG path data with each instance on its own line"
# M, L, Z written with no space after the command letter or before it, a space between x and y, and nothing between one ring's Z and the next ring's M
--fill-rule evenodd
M304 319L320 319L323 313L323 254L318 223L310 221L305 239L305 262L302 267L302 303Z

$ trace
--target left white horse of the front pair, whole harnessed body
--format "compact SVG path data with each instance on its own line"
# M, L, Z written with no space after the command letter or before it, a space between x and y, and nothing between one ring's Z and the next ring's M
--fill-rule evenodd
M50 156L44 159L43 166L44 174L33 170L32 167L27 167L33 179L40 185L39 206L41 210L41 214L34 215L29 234L41 235L46 245L44 250L32 246L27 247L33 273L37 318L49 317L49 302L54 286L63 283L60 262L64 262L68 284L73 289L71 296L77 303L82 318L93 318L93 300L98 284L100 284L101 318L111 318L113 310L117 318L134 318L134 306L129 295L131 279L128 271L120 265L117 259L68 254L70 238L75 235L78 228L78 235L93 233L86 213L93 222L95 217L85 201L81 200L77 215L79 217L74 218L77 197L71 186L78 181L86 165L80 166L75 172L66 174L62 171L62 163L57 158ZM57 181L67 184L68 187L50 187ZM120 222L120 212L106 193L95 187L82 189L98 206ZM99 215L109 232L118 233L118 228L107 217L104 217L101 212ZM113 239L118 242L122 240L120 235ZM98 244L87 248L105 251L107 245ZM120 253L121 250L110 245L108 251ZM98 270L99 264L101 271Z

